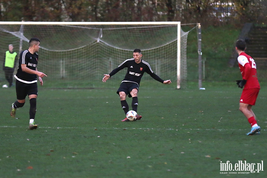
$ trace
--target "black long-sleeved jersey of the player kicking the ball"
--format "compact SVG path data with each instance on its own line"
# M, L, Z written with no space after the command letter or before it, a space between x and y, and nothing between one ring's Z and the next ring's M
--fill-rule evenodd
M164 81L160 77L158 77L158 75L153 73L149 63L147 63L146 61L142 59L140 63L136 63L134 61L134 58L125 60L123 63L121 63L118 66L118 68L111 71L109 76L111 77L112 75L116 74L118 71L120 71L121 69L124 69L125 67L127 67L127 73L122 82L135 82L139 85L144 72L150 74L150 76L153 79L161 83L163 83Z

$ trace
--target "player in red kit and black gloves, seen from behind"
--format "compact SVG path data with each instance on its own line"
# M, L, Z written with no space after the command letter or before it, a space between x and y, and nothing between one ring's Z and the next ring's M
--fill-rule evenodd
M237 60L243 80L236 80L236 84L239 88L244 87L239 101L239 110L247 117L252 127L247 135L253 135L260 133L260 126L258 126L256 116L251 109L256 103L260 91L260 84L257 77L255 61L245 53L245 49L246 42L244 40L238 40L236 42L236 52L239 55Z

